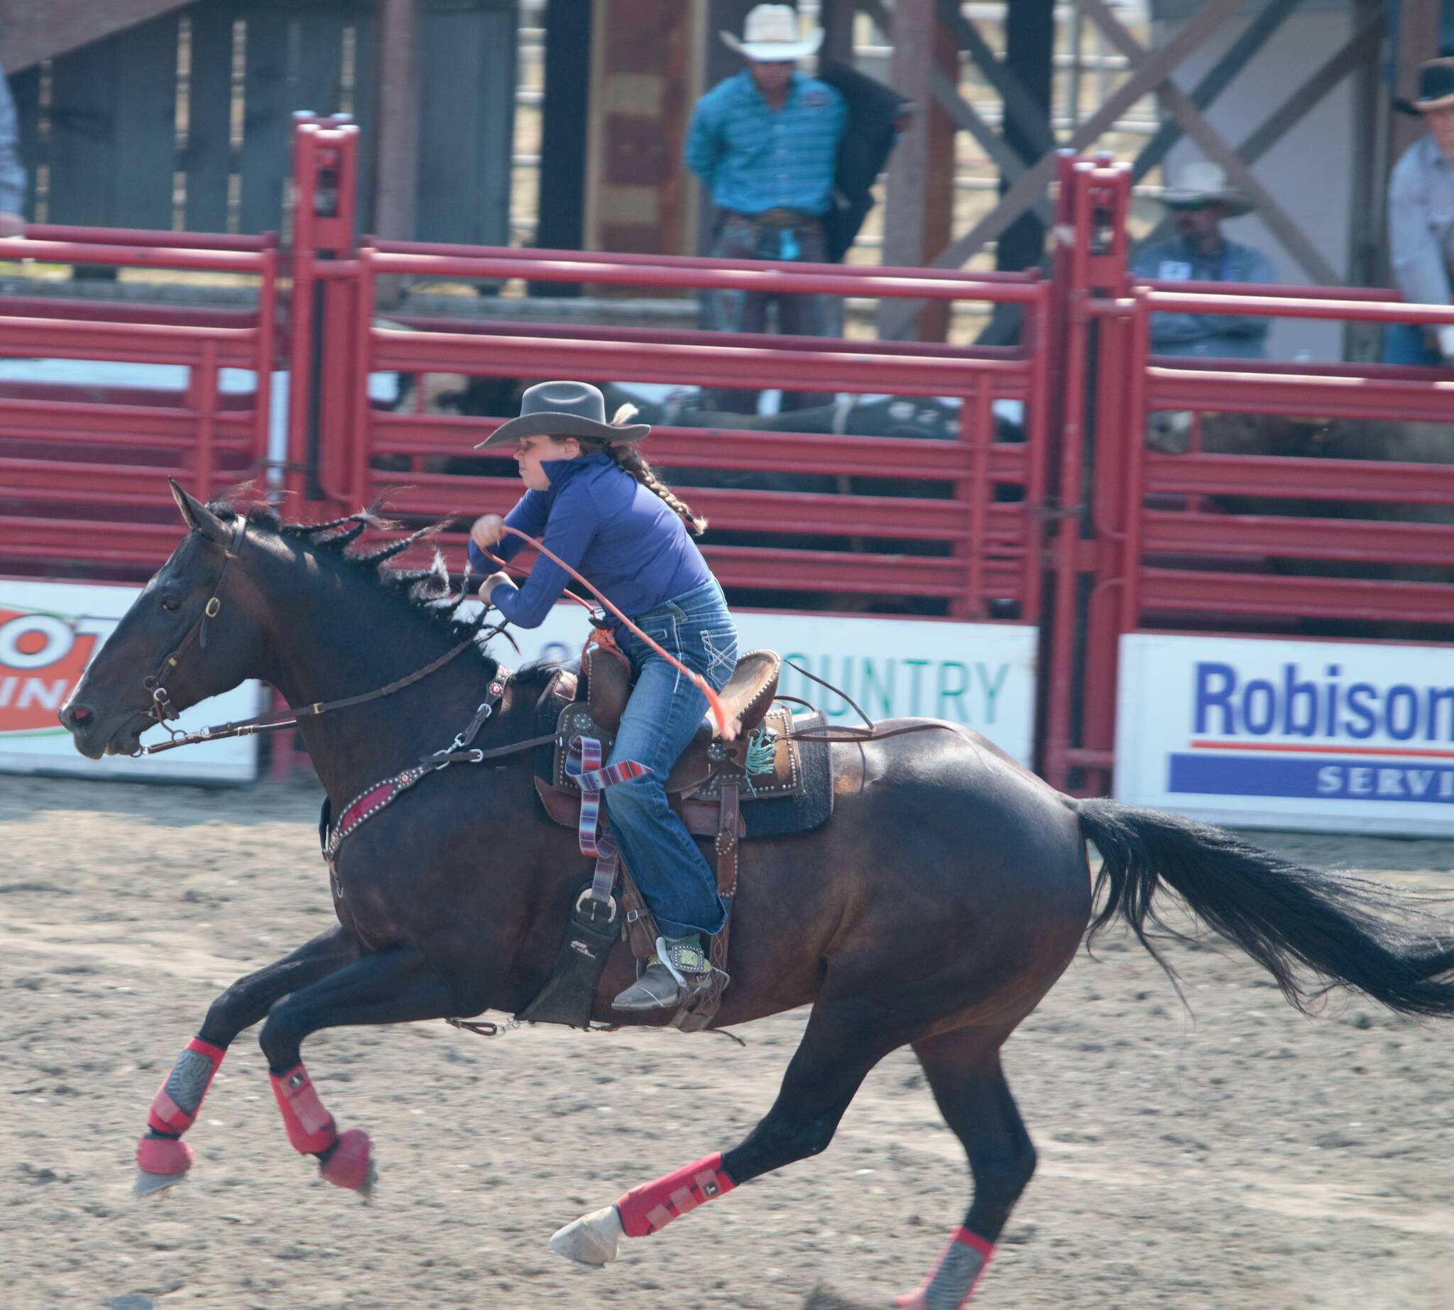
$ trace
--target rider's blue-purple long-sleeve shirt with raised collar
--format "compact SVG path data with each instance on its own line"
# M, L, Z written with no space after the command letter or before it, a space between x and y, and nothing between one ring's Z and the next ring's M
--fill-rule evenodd
M541 464L548 491L526 491L505 522L539 538L579 570L628 618L711 580L711 568L680 516L602 452ZM515 555L523 542L506 537L494 554ZM470 567L493 566L470 542ZM525 584L502 584L491 593L500 614L518 628L538 628L566 590L570 574L541 555ZM615 628L616 621L606 614Z

